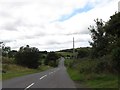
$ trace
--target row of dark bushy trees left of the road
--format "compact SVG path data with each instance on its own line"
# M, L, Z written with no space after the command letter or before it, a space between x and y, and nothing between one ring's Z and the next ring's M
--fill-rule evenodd
M19 50L11 50L8 46L2 46L2 63L17 64L28 68L36 69L40 65L56 67L60 55L55 52L39 51L36 47L26 45Z

